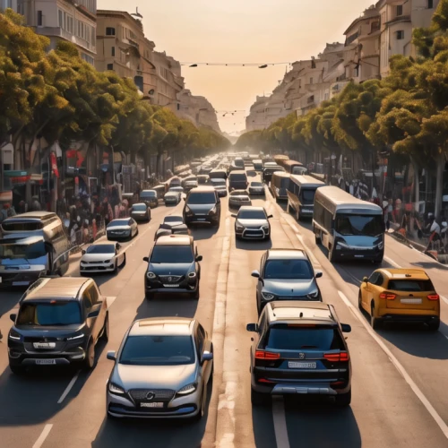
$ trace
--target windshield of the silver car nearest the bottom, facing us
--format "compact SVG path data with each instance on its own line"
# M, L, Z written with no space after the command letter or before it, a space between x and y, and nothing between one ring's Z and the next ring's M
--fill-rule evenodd
M194 363L191 336L130 336L119 363L128 366L179 366Z

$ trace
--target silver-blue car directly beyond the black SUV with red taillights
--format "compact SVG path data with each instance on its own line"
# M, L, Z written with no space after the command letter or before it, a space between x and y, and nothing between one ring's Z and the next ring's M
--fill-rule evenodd
M305 251L300 249L270 249L262 256L260 271L253 271L258 279L256 306L263 307L275 300L322 301L316 279L322 271L315 271Z

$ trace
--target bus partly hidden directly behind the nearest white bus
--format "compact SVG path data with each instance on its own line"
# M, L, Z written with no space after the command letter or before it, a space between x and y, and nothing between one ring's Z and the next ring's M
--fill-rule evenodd
M295 211L297 220L313 218L314 194L317 188L324 185L314 177L292 174L288 189L288 212Z

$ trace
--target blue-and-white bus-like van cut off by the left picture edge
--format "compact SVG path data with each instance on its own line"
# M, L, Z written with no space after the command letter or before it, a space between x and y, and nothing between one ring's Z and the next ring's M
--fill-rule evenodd
M56 213L30 211L0 227L0 287L30 286L42 275L68 270L70 243Z

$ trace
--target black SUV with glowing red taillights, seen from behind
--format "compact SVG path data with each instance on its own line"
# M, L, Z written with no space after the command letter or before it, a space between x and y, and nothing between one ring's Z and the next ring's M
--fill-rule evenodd
M263 404L270 395L314 394L351 401L349 348L332 305L319 302L272 302L258 323L249 323L251 399Z

